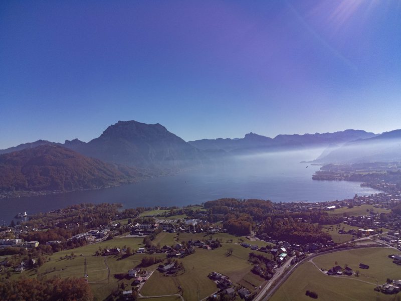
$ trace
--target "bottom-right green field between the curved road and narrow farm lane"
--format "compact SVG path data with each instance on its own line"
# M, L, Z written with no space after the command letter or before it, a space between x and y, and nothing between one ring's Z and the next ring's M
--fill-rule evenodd
M352 276L353 277L353 276ZM355 280L355 277L332 277L322 274L312 263L305 262L274 293L270 301L311 301L306 290L315 291L318 300L376 301L375 285ZM380 300L394 296L380 294Z

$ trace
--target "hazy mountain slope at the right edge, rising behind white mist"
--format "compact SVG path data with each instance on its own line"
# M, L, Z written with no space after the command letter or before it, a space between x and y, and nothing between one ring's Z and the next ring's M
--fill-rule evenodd
M328 154L322 154L315 160L315 162L319 163L361 163L376 161L401 161L401 129L345 143Z

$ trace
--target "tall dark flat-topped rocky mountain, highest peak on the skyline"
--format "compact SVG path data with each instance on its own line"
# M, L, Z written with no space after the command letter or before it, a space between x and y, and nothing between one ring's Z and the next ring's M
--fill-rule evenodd
M73 141L68 142L70 147L85 156L146 169L181 169L200 164L204 158L159 123L118 121L88 143Z

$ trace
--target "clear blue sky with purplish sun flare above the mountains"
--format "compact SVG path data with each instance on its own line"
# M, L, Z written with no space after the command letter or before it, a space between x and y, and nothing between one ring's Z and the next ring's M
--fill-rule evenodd
M0 148L401 128L401 2L2 1Z

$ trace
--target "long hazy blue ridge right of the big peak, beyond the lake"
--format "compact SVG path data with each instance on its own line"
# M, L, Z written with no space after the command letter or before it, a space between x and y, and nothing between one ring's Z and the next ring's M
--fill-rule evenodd
M374 133L363 130L347 129L334 133L277 135L274 138L255 133L246 134L244 138L218 138L189 141L191 145L202 150L224 150L225 152L250 153L269 150L298 149L305 147L327 147L331 144L342 144L348 141L374 137Z

